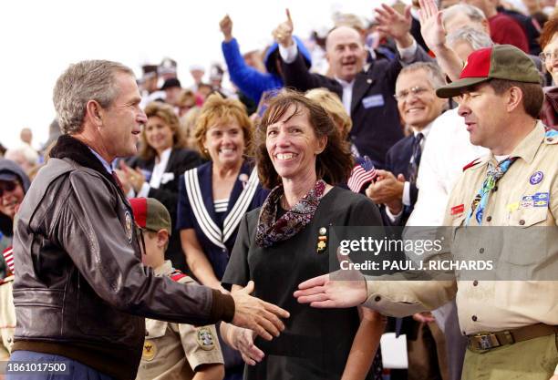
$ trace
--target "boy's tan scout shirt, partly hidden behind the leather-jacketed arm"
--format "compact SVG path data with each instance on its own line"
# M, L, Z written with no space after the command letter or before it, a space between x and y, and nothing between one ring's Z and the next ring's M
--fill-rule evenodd
M172 268L170 261L155 269L158 276L168 275L181 283L191 277ZM223 364L221 346L213 324L194 327L146 319L137 380L191 379L199 365Z

